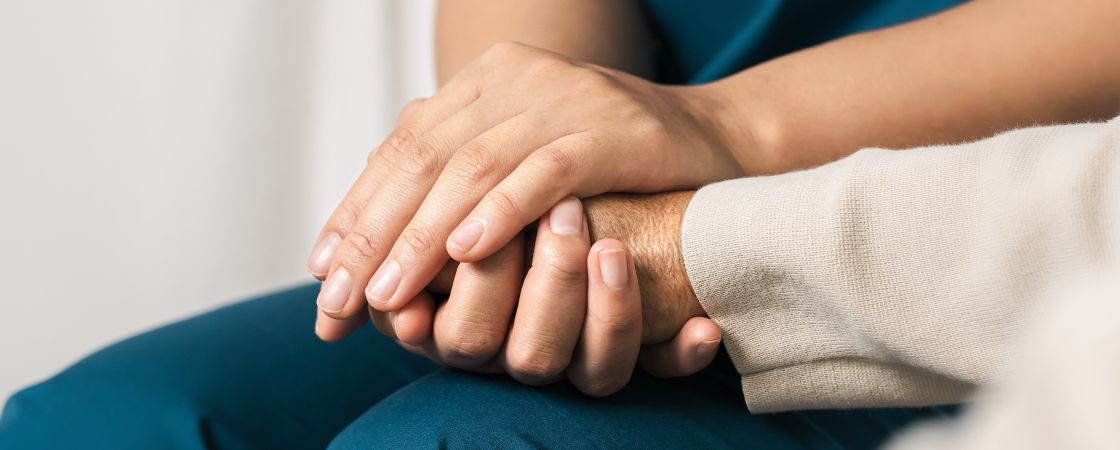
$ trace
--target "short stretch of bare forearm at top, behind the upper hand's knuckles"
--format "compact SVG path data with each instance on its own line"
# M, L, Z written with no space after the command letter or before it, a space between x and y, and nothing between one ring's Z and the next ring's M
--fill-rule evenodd
M653 71L653 37L638 1L444 0L436 26L439 83L501 41L638 76Z

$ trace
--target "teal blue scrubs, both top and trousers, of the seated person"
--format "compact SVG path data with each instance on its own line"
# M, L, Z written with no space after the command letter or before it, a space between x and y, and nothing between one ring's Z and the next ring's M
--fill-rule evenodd
M659 78L702 83L953 1L646 2ZM312 334L318 284L136 336L13 395L0 449L875 448L939 409L750 414L726 355L607 399L438 368L366 327Z

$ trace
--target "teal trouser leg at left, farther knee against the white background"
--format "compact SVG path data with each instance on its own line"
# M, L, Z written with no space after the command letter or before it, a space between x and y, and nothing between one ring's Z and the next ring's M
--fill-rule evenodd
M16 394L3 449L309 449L435 366L375 336L314 335L318 285L121 341Z

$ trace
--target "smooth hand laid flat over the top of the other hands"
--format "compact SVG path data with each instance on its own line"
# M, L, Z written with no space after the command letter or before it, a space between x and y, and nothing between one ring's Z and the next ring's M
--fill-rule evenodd
M324 334L400 309L448 257L477 262L561 198L741 176L706 92L501 44L401 113L309 259ZM364 292L364 294L363 294ZM328 320L333 318L338 320Z

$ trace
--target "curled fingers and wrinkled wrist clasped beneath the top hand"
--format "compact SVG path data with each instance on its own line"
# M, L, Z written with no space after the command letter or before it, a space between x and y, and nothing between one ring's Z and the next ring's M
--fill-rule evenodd
M451 271L437 278L433 290L450 284L447 301L423 292L401 311L371 309L373 321L442 365L528 384L566 377L590 395L626 385L640 351L654 375L690 375L715 357L720 330L683 273L680 221L689 198L596 197L589 221L579 200L566 198L541 218L528 273L519 237L459 264L454 283Z

